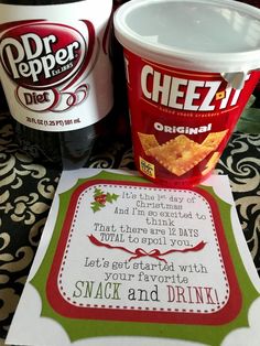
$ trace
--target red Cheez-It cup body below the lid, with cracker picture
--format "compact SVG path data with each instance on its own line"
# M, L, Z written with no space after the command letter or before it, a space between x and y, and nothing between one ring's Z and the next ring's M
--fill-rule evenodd
M203 181L215 167L258 80L234 89L217 73L183 71L124 52L136 164L169 185Z

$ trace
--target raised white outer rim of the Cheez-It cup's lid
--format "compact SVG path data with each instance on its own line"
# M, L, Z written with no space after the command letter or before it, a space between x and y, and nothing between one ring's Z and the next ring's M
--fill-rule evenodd
M138 8L160 3L162 0L131 0L119 7L113 17L115 34L124 48L143 58L154 61L173 67L181 67L212 73L250 72L260 68L260 46L236 53L215 53L192 51L164 44L145 42L127 23L126 18ZM198 4L225 6L236 9L260 22L260 9L234 0L163 0L163 2L191 2ZM260 25L260 24L259 24Z

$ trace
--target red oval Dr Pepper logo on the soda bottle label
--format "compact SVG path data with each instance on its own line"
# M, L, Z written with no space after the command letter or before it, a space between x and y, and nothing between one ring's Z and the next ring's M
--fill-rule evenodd
M72 26L45 21L0 28L0 58L6 73L19 86L32 89L57 86L69 78L72 85L87 67L94 48L94 26L89 21L84 24L87 41Z

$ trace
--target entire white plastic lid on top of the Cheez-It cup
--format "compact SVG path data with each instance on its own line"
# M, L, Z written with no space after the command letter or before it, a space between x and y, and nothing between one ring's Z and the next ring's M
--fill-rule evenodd
M131 0L117 10L115 31L126 48L169 66L260 68L260 10L235 0Z

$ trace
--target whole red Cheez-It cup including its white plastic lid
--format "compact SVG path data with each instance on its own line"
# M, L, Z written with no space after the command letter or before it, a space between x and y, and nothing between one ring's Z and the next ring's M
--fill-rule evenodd
M232 0L132 0L116 12L115 30L138 170L160 184L198 184L259 79L260 10Z

